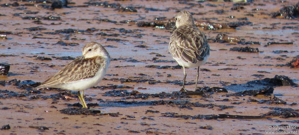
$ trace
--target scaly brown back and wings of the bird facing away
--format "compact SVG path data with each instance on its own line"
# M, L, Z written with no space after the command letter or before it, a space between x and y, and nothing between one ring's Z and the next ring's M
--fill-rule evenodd
M182 59L184 62L197 63L210 55L207 37L192 25L180 26L174 30L168 48L174 59Z

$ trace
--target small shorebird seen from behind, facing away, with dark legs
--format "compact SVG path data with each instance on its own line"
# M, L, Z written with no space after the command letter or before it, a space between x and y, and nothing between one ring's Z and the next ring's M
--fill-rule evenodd
M183 88L181 91L186 91L185 67L198 67L196 76L196 86L199 77L199 66L207 62L210 55L210 46L207 37L194 24L194 19L190 12L181 11L176 15L176 26L171 30L170 43L168 49L179 65L184 70Z

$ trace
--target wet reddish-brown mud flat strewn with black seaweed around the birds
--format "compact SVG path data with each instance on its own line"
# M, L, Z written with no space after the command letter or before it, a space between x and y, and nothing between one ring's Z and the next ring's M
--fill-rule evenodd
M0 134L266 134L278 131L270 125L296 126L298 5L2 0ZM193 14L211 48L196 92L179 92L183 71L168 53L180 10ZM91 41L112 59L100 84L85 90L89 109L74 91L33 89ZM187 90L196 71L187 69Z

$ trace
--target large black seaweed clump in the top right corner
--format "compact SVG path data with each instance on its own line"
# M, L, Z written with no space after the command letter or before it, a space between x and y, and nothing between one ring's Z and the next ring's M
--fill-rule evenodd
M279 11L272 13L272 17L284 16L286 19L294 19L299 17L299 2L293 6L281 8Z

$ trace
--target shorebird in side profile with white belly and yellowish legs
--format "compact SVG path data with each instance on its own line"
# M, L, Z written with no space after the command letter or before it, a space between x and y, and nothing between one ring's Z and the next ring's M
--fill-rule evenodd
M36 88L76 90L83 108L87 108L83 92L103 79L110 63L110 56L106 49L97 42L84 45L82 53L82 56L68 63L57 74ZM82 90L81 94L80 90Z

